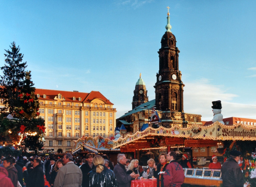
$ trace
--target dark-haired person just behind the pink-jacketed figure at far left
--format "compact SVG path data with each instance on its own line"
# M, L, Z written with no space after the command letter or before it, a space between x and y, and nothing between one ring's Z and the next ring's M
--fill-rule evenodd
M14 187L17 187L18 184L18 175L16 168L12 165L12 157L9 156L7 158L4 158L4 167L8 171L8 177L11 179Z

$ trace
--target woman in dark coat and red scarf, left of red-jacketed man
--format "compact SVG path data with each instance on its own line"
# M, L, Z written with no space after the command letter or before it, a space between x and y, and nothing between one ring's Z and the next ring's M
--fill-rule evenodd
M167 160L166 160L167 155L165 153L161 153L159 155L159 164L156 166L154 164L154 173L153 176L157 178L157 187L163 187L163 175L167 166ZM161 172L161 173L160 173Z

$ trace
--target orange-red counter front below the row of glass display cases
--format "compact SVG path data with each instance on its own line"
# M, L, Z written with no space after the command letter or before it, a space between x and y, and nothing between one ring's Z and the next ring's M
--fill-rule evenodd
M211 179L201 179L201 178L187 178L184 179L184 184L191 185L206 185L206 186L217 186L222 184L222 180L211 180Z

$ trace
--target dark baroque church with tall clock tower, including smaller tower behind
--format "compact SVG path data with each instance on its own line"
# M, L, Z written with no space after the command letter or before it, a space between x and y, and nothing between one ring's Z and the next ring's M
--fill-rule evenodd
M159 71L156 75L155 99L148 101L146 85L138 80L134 90L132 111L116 120L117 126L123 124L132 133L141 129L142 125L150 121L153 108L161 119L160 125L170 128L173 125L186 127L189 124L202 125L201 115L184 113L183 87L181 71L179 70L179 49L176 37L170 31L172 26L167 13L166 32L161 39L159 54ZM142 80L142 81L141 81Z

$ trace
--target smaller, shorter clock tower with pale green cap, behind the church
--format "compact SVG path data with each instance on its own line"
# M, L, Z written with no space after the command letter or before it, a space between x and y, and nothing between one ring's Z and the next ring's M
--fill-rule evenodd
M134 90L134 96L133 96L133 102L132 102L133 109L135 109L137 106L147 101L148 101L148 97L147 97L146 84L141 78L141 73L140 73L140 78L138 79L135 86L135 90Z

